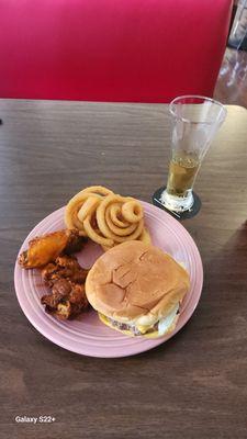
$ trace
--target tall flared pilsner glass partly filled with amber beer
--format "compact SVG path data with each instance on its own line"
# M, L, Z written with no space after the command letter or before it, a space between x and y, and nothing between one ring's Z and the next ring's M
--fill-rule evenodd
M171 158L167 188L160 202L170 211L193 205L193 183L212 139L226 117L226 109L210 98L183 95L169 105L172 119Z

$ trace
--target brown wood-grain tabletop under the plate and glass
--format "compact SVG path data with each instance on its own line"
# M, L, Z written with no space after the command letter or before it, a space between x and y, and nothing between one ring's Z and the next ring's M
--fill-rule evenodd
M149 201L166 182L167 105L0 102L1 438L247 437L247 111L228 116L199 173L204 286L187 326L123 359L74 354L40 335L19 307L13 266L37 222L81 188ZM16 416L50 415L50 424Z

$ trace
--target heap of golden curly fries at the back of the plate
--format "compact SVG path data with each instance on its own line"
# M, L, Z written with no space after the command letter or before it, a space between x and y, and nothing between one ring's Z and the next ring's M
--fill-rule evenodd
M138 200L89 187L77 193L65 209L65 224L108 249L126 240L150 241Z

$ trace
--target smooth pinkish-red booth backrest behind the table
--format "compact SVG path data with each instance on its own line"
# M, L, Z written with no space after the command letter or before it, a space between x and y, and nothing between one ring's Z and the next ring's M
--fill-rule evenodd
M0 98L212 95L232 0L0 0Z

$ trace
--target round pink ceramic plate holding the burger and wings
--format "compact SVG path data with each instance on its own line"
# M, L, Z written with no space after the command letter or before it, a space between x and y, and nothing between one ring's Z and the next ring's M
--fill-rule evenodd
M60 322L46 314L41 305L41 296L46 293L38 270L23 270L15 263L14 283L19 303L32 325L54 344L91 357L127 357L155 348L181 329L193 314L202 291L203 269L199 250L177 219L151 204L144 203L146 226L153 244L170 254L178 262L183 262L190 273L191 289L187 294L176 329L157 339L127 337L103 325L94 311L82 314L78 319ZM64 207L48 215L31 232L20 252L27 248L31 238L64 228ZM90 267L102 254L93 243L77 255L82 267Z

